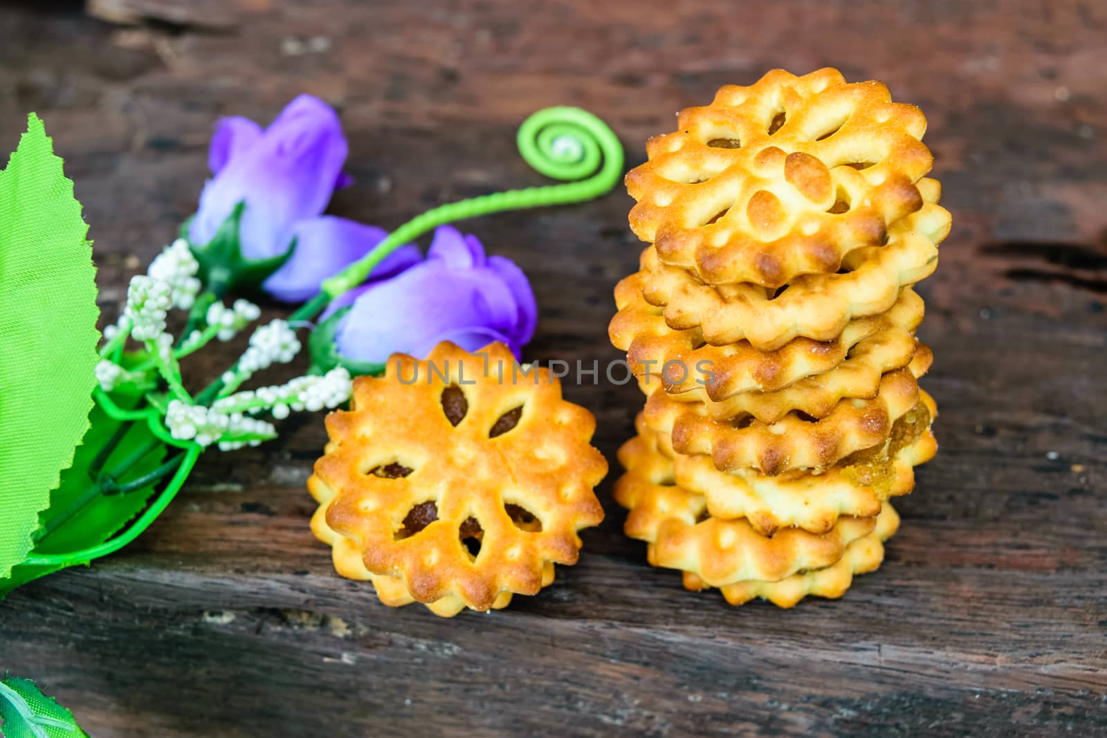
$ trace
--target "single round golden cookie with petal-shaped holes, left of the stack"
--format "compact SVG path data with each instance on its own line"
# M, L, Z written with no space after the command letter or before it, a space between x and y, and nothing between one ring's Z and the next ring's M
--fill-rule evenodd
M525 373L503 344L394 355L327 418L312 530L339 573L383 585L385 604L406 590L438 614L506 605L552 581L552 564L576 563L577 532L603 519L594 428L556 376Z

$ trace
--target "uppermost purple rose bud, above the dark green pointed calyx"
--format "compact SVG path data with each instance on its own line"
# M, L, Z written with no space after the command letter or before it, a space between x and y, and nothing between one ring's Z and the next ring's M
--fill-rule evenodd
M289 103L265 131L246 118L225 118L211 139L214 176L200 194L189 241L206 245L246 200L238 233L242 257L284 253L296 224L320 215L342 181L346 150L338 115L311 95Z

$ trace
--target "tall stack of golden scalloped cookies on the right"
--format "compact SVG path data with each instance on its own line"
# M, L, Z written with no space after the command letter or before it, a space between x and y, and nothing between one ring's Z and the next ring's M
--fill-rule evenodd
M950 215L925 118L878 82L775 70L677 128L627 176L651 245L610 326L648 396L619 453L625 532L732 604L840 596L937 450L911 285Z

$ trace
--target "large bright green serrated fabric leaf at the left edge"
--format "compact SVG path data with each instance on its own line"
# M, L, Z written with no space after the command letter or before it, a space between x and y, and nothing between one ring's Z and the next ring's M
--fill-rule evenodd
M0 171L0 578L30 551L89 427L100 311L87 230L31 114Z

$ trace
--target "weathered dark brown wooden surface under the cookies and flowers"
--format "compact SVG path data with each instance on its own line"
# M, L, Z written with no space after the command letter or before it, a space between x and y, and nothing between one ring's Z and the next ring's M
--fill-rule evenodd
M505 612L442 621L339 579L308 531L318 417L205 457L149 532L0 603L0 668L96 736L1107 734L1107 6L7 3L0 148L38 111L85 204L103 309L194 207L213 121L301 91L341 108L356 186L394 226L540 177L514 127L608 119L629 163L673 113L764 70L887 81L930 119L954 229L928 300L941 453L883 568L837 602L726 606L653 570L623 513ZM531 277L531 358L607 360L630 200L470 226ZM200 366L199 373L216 371ZM570 386L612 460L641 405ZM613 465L614 466L614 465Z

